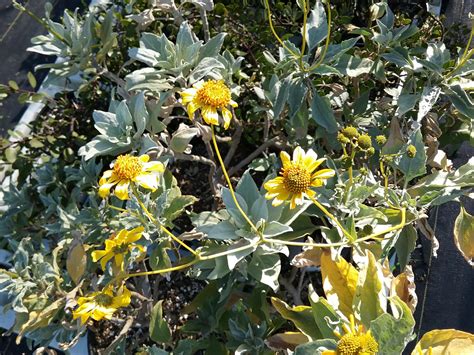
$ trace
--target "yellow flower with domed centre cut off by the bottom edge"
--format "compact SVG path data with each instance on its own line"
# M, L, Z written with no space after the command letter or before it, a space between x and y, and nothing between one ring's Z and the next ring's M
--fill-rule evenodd
M334 332L339 338L337 350L325 350L322 355L374 355L379 351L379 344L370 330L365 332L364 326L355 326L354 316L350 315L350 327L343 325L344 335Z

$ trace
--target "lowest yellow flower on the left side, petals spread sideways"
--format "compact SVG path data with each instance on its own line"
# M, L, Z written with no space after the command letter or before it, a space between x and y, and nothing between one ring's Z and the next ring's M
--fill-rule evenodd
M81 318L81 323L85 324L89 318L101 320L110 319L118 308L127 307L130 304L130 291L122 286L114 293L111 286L100 292L92 292L85 297L79 297L76 308L72 316L74 319Z

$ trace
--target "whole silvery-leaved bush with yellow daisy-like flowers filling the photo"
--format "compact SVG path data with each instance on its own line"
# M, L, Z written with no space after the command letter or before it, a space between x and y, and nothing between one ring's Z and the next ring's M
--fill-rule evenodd
M450 160L473 139L472 30L453 43L385 1L355 23L319 0L105 0L59 22L14 4L59 90L0 87L45 104L1 149L17 341L474 353L470 333L416 332L412 269L418 235L442 253L428 216L449 201L474 265L474 160Z

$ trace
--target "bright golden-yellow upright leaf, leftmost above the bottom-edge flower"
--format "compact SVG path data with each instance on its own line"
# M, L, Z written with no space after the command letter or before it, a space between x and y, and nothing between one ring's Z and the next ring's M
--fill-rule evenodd
M329 304L349 317L352 314L358 271L342 257L336 261L332 260L331 254L325 251L321 255L321 273L324 293Z

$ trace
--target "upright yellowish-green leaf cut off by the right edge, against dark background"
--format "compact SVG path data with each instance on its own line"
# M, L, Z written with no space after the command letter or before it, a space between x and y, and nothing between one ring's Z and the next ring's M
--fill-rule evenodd
M454 243L464 259L474 266L474 217L463 206L454 223Z

